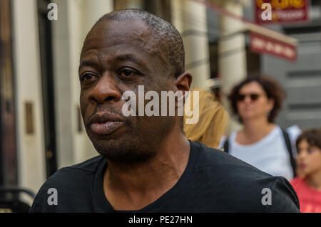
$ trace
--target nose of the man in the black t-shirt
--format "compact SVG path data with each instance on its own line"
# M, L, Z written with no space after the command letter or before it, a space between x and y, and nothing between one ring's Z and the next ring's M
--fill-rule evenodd
M117 102L121 99L121 93L116 86L116 80L109 73L105 73L99 78L98 83L88 94L88 99L92 102Z

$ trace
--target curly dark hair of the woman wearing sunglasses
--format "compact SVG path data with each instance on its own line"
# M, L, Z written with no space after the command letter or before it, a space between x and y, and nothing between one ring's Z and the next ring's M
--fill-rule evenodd
M263 90L265 91L267 98L274 100L273 109L270 112L270 115L268 115L267 117L268 122L274 122L278 112L282 110L282 102L285 99L285 91L280 86L280 84L277 83L276 80L266 75L250 75L248 78L240 82L238 85L235 85L235 87L230 92L230 95L228 95L228 100L230 100L230 105L232 107L233 113L235 115L238 115L238 120L242 123L242 119L238 114L238 95L240 89L243 88L244 85L251 82L256 82L260 84Z

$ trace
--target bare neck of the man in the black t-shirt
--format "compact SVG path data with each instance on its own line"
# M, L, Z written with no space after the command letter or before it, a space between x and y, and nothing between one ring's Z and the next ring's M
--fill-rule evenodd
M179 132L173 130L161 144L151 147L158 151L146 162L128 165L108 161L103 187L115 209L143 208L177 183L190 154L190 143Z

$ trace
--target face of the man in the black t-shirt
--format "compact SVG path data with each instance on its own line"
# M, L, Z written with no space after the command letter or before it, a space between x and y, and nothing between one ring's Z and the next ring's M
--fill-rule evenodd
M121 97L130 90L173 90L165 61L152 33L141 21L103 21L88 34L81 52L81 114L88 137L104 157L138 162L173 127L173 117L125 117ZM167 72L168 73L168 72ZM137 100L138 102L138 100Z

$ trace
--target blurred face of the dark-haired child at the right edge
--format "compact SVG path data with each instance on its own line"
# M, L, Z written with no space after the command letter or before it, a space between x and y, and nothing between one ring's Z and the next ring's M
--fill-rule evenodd
M311 147L306 139L302 139L297 148L297 168L300 174L307 176L321 171L321 149Z

